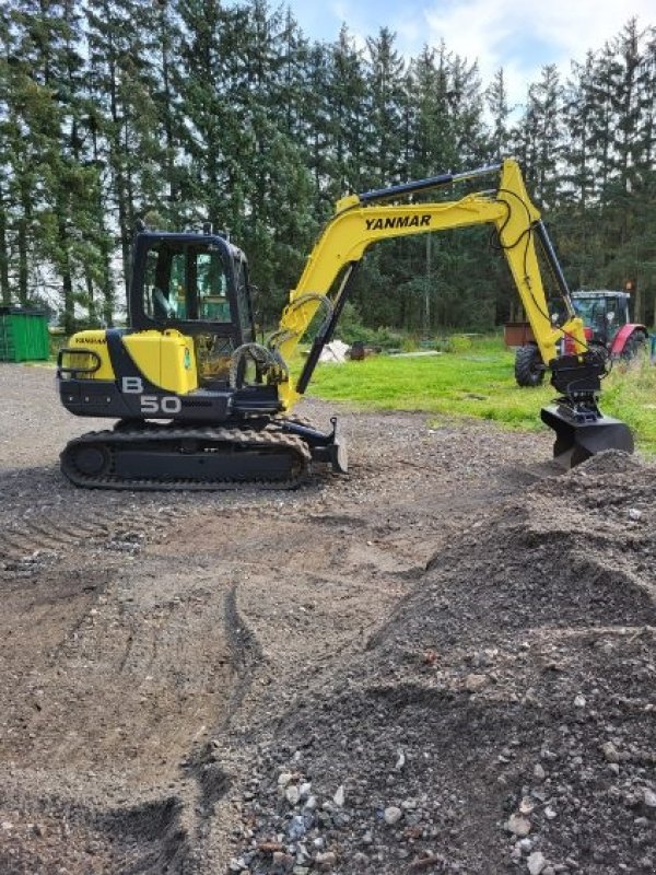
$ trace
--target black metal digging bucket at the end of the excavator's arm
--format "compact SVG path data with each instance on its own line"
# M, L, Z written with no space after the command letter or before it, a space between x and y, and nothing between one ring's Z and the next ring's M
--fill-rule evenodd
M604 450L633 453L631 429L619 419L601 415L589 419L577 418L575 412L562 405L543 407L540 417L555 432L554 458L567 468L581 465Z

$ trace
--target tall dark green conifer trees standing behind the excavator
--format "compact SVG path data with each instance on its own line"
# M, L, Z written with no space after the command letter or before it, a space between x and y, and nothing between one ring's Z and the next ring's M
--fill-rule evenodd
M210 221L271 323L337 198L513 155L571 287L630 284L655 323L654 26L629 20L566 79L542 68L519 107L503 69L482 82L444 43L309 40L267 0L3 0L0 55L2 305L113 325L137 219ZM491 248L480 229L378 244L351 316L424 334L516 317Z

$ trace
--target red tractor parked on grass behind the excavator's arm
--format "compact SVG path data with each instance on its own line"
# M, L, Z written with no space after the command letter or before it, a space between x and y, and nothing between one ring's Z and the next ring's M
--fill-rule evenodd
M591 349L611 359L634 359L646 350L648 331L631 322L628 292L573 292L576 315L585 324L585 336ZM563 354L573 354L574 340L563 339ZM519 386L539 386L544 378L544 363L537 345L525 336L524 346L515 353L515 380Z

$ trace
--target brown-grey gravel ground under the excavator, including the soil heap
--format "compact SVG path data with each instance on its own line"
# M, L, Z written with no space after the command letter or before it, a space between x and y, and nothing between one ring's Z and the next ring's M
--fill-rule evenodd
M337 412L348 477L82 491L0 365L0 873L656 872L656 467Z

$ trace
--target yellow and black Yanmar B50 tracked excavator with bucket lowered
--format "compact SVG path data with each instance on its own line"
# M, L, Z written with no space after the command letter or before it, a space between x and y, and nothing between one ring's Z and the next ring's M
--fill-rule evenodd
M458 200L409 198L494 175L496 187ZM336 205L278 330L256 342L244 254L219 234L136 235L129 328L74 335L58 360L65 407L117 419L108 431L72 440L61 467L73 483L112 489L225 489L244 482L300 483L313 463L347 470L337 430L323 433L290 416L335 331L355 269L382 240L490 224L496 230L551 383L560 397L541 411L555 431L554 454L575 465L607 448L631 452L626 425L602 416L597 398L605 361L588 349L563 272L518 165L443 174L351 195ZM551 316L539 242L566 316ZM288 362L313 317L321 328L297 380ZM574 352L557 353L571 338ZM572 343L570 345L572 346Z

